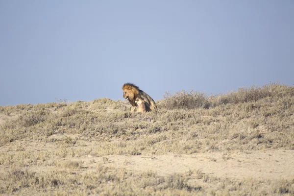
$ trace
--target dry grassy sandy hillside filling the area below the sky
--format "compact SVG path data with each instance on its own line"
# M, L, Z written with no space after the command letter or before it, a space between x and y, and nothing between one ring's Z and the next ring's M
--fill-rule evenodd
M294 86L157 104L0 106L0 194L294 195Z

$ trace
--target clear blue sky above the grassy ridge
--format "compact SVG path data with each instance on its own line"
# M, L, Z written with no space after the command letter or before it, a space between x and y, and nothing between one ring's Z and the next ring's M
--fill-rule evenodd
M294 84L294 0L0 0L0 105Z

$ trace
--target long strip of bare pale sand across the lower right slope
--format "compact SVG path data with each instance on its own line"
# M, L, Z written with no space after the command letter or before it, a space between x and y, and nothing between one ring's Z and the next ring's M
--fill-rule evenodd
M207 152L193 155L159 155L159 156L105 156L114 167L127 170L153 171L161 176L174 172L201 170L217 177L233 178L293 178L294 151L269 150L248 152ZM84 166L93 167L93 159L83 159ZM92 163L91 163L92 162Z

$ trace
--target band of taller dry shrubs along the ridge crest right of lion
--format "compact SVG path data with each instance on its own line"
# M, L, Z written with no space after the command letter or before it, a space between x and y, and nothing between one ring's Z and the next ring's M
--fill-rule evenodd
M165 92L164 99L158 101L158 104L162 109L208 109L223 104L256 102L263 98L284 98L287 96L294 96L294 87L270 83L262 87L239 88L237 92L231 92L225 95L211 95L209 97L205 93L193 90L189 93L186 91L180 91L174 94Z

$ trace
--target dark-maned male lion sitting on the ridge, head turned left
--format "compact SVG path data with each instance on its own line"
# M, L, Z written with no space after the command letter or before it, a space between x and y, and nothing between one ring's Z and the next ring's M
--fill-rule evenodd
M137 104L135 103L136 98L142 98L145 104L150 110L157 110L157 105L154 100L148 96L144 91L141 91L138 86L132 83L125 83L123 85L123 98L128 99L131 107L131 112L134 112Z

